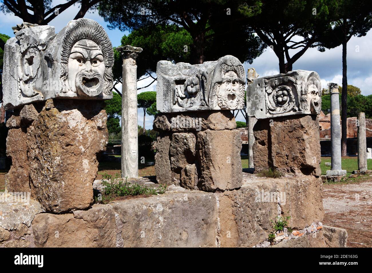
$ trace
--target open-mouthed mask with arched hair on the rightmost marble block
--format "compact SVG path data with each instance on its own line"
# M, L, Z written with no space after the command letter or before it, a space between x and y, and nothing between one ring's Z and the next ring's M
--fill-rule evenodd
M322 108L320 77L316 72L311 72L305 77L302 85L300 108L311 114L320 114Z

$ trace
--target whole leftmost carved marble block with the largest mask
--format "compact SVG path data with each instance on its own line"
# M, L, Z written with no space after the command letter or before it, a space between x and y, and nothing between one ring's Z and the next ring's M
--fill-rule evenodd
M15 36L4 50L6 109L55 97L112 98L113 49L97 22L72 20L57 34L52 26L31 26Z

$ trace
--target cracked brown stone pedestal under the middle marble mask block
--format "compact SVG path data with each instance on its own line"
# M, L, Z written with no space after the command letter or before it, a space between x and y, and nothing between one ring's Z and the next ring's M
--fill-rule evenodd
M216 191L241 186L241 138L230 111L158 114L155 172L162 184Z

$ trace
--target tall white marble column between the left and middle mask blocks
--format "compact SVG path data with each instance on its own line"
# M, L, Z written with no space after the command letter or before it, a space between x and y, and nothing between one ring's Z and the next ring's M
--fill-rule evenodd
M121 175L138 176L138 121L137 121L137 64L142 48L116 48L123 56L122 115L121 115Z

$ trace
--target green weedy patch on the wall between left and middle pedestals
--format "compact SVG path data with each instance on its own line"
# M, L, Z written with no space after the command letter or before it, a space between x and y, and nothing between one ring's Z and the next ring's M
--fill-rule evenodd
M118 179L120 173L116 173L113 177L108 173L103 175L102 185L105 186L102 190L102 196L96 196L94 199L96 203L107 204L121 196L150 196L164 194L166 186L159 186L158 188L150 188L139 185L138 183L130 183L125 178L125 181Z

